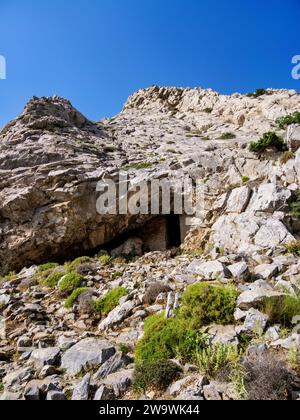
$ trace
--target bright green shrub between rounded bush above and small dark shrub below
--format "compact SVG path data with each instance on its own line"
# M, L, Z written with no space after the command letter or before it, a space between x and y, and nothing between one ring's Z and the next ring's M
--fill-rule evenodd
M183 362L195 360L196 350L206 343L206 336L193 329L189 320L165 318L161 313L145 321L144 337L135 349L136 363L168 360L175 357Z

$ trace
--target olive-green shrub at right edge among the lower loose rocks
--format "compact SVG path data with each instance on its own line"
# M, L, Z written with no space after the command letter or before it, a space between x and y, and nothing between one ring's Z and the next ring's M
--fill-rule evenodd
M288 327L295 316L300 315L300 295L279 296L265 299L260 305L260 310L269 316L271 324L281 324Z

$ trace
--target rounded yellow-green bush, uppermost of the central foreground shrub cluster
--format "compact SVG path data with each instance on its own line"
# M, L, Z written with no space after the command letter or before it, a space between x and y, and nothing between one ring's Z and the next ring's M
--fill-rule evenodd
M180 316L201 328L209 324L234 323L238 293L233 287L197 283L189 286L181 299Z

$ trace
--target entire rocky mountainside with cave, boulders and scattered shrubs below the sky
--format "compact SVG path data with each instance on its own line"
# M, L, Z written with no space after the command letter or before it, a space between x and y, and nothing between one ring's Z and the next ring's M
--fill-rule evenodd
M2 399L299 399L299 111L295 91L151 87L92 123L33 98L0 133ZM286 144L255 153L267 132ZM200 180L179 248L154 216L97 213L120 169Z

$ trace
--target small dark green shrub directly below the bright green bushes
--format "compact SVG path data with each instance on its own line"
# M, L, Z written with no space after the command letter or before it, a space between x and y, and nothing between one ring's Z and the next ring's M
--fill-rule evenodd
M180 373L180 367L170 360L147 361L136 365L133 387L137 392L145 392L147 389L163 392Z

